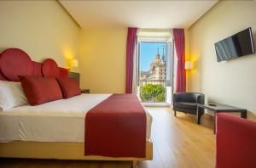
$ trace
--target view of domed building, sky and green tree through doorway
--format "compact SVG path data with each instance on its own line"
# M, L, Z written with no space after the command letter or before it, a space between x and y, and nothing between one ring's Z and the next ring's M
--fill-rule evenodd
M166 102L166 42L141 42L140 49L140 98Z

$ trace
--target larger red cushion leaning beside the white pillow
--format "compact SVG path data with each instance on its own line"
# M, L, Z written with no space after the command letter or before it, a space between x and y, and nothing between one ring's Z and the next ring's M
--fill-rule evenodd
M61 99L61 88L55 78L23 76L21 85L29 104L38 105Z

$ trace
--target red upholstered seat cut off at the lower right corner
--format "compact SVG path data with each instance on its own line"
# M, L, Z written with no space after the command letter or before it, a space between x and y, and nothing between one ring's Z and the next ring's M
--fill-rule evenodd
M255 167L256 122L221 113L216 122L216 168Z

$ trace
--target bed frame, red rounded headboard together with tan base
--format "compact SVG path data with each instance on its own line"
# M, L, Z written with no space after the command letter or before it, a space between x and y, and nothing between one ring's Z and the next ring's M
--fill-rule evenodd
M58 67L53 59L45 59L44 63L34 62L26 52L19 48L9 48L0 54L0 80L2 81L19 81L19 76L66 77L67 72L67 69ZM56 160L130 160L132 167L135 168L138 160L153 159L153 143L152 141L146 142L145 158L132 158L84 156L84 143L14 141L0 143L0 157Z

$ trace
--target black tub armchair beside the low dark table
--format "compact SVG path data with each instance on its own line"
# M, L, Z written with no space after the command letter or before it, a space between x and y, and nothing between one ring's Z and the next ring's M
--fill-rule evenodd
M177 92L173 94L174 116L176 111L196 115L197 104L205 104L205 95L199 92ZM199 109L199 115L204 114L204 109Z

